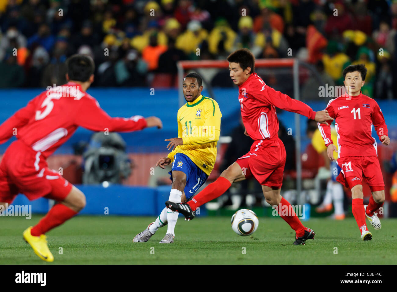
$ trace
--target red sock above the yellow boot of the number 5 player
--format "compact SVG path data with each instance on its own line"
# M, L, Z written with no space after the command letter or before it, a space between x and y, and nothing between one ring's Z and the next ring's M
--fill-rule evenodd
M47 215L45 215L36 226L34 226L31 230L31 234L33 236L40 236L40 234L45 234L52 228L62 224L67 219L70 219L77 212L73 211L69 207L66 207L64 204L59 203L54 205L50 211L48 211Z

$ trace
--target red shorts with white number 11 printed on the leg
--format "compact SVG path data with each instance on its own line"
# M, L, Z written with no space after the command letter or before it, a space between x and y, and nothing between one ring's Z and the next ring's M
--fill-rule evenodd
M342 169L336 180L346 188L361 184L362 180L370 186L371 191L384 190L382 170L376 156L347 156L337 159Z

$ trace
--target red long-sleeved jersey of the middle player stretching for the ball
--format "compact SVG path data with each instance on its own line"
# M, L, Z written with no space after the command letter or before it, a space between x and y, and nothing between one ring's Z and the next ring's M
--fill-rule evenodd
M248 135L253 140L261 140L262 145L263 140L278 137L276 107L302 114L312 120L316 116L310 106L269 87L256 73L252 73L239 85L239 102Z

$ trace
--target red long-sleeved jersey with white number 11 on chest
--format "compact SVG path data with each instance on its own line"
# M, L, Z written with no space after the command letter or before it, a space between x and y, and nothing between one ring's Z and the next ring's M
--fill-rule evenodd
M379 138L387 136L387 126L382 110L374 99L362 93L358 96L345 94L331 99L326 110L335 119L338 158L378 156L376 140L371 136L372 126ZM330 124L318 124L326 146L335 142L331 139Z

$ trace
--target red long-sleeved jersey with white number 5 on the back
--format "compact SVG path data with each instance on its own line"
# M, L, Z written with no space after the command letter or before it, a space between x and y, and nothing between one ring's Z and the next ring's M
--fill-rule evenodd
M47 158L79 126L93 131L136 131L146 127L146 120L142 116L111 118L96 99L69 82L42 92L1 124L0 143L16 135Z

